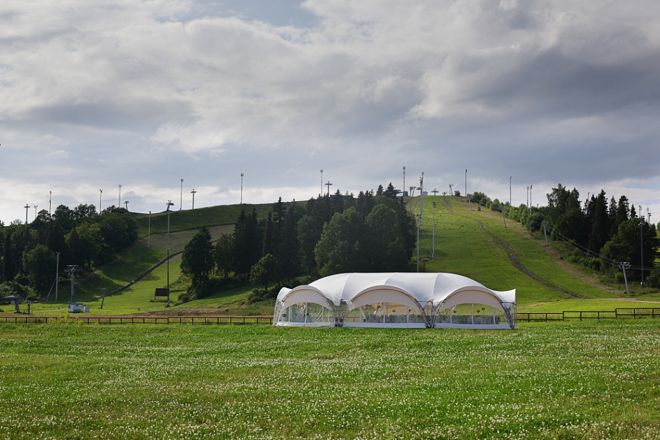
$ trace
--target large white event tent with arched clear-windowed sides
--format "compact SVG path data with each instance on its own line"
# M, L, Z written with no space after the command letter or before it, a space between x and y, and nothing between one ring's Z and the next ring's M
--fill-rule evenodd
M282 288L274 324L335 327L515 329L516 291L456 274L336 274Z

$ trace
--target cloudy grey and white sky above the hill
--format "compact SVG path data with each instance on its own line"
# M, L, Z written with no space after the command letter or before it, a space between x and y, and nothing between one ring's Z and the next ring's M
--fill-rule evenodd
M657 0L3 0L0 221L402 189L405 166L657 223L659 72Z

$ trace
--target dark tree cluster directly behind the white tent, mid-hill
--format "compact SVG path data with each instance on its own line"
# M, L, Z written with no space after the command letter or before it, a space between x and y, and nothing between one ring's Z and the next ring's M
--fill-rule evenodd
M337 190L288 206L279 198L263 219L242 210L233 233L212 244L203 228L185 246L181 269L192 283L184 299L251 281L263 286L253 292L257 301L301 275L407 271L416 243L411 221L391 183L357 197Z

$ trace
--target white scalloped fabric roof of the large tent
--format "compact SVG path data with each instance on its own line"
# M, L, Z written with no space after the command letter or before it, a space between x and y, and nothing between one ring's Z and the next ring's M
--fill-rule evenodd
M388 287L407 292L421 304L427 304L431 301L434 306L437 306L452 294L466 290L477 290L493 294L503 303L514 303L516 301L515 290L506 292L490 290L466 276L446 273L417 274L407 272L352 273L326 276L309 285L302 285L294 289L282 288L277 296L277 301L283 301L294 290L309 290L310 287L321 292L335 306L339 306L341 301L352 301L366 290Z

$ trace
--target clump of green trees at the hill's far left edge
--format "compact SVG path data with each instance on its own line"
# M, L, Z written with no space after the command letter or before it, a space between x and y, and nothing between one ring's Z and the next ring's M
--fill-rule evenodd
M41 210L32 223L0 222L0 285L5 294L26 299L45 296L58 267L87 267L109 262L137 239L137 225L124 208L94 205ZM59 264L57 263L59 261ZM3 295L4 296L4 295Z

